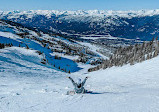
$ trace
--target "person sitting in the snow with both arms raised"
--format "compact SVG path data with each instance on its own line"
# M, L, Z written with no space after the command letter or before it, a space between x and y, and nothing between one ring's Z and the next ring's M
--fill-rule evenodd
M67 77L71 80L73 86L74 86L74 92L75 93L86 93L86 90L84 89L84 84L86 83L86 80L88 77L86 77L83 82L81 82L81 79L79 78L77 83L74 82L74 80L71 77Z

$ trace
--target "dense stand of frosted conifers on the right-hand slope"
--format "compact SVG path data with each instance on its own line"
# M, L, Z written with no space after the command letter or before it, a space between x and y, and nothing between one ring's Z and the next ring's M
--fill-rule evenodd
M104 62L96 67L88 69L88 72L106 69L112 66L123 66L125 64L134 65L136 63L149 60L159 54L158 37L152 41L143 42L142 44L130 45L127 47L119 47L115 53Z

